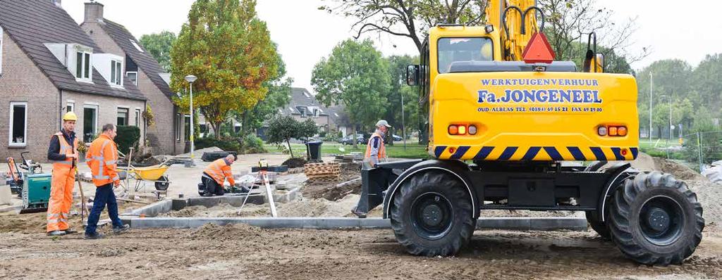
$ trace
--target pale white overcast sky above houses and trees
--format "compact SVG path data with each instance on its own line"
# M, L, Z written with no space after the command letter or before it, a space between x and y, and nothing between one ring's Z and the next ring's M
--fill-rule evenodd
M313 66L328 56L336 44L356 35L353 19L318 10L322 0L257 0L258 17L268 24L271 39L279 45L293 86L313 91ZM63 8L82 23L86 0L62 0ZM181 31L193 0L100 0L105 18L125 25L137 38L164 30ZM722 20L717 11L722 1L704 5L679 0L600 0L597 5L614 11L614 21L636 18L638 30L630 52L643 47L651 53L632 64L635 69L667 58L686 60L696 66L705 55L722 53ZM416 55L409 38L367 35L384 55Z

